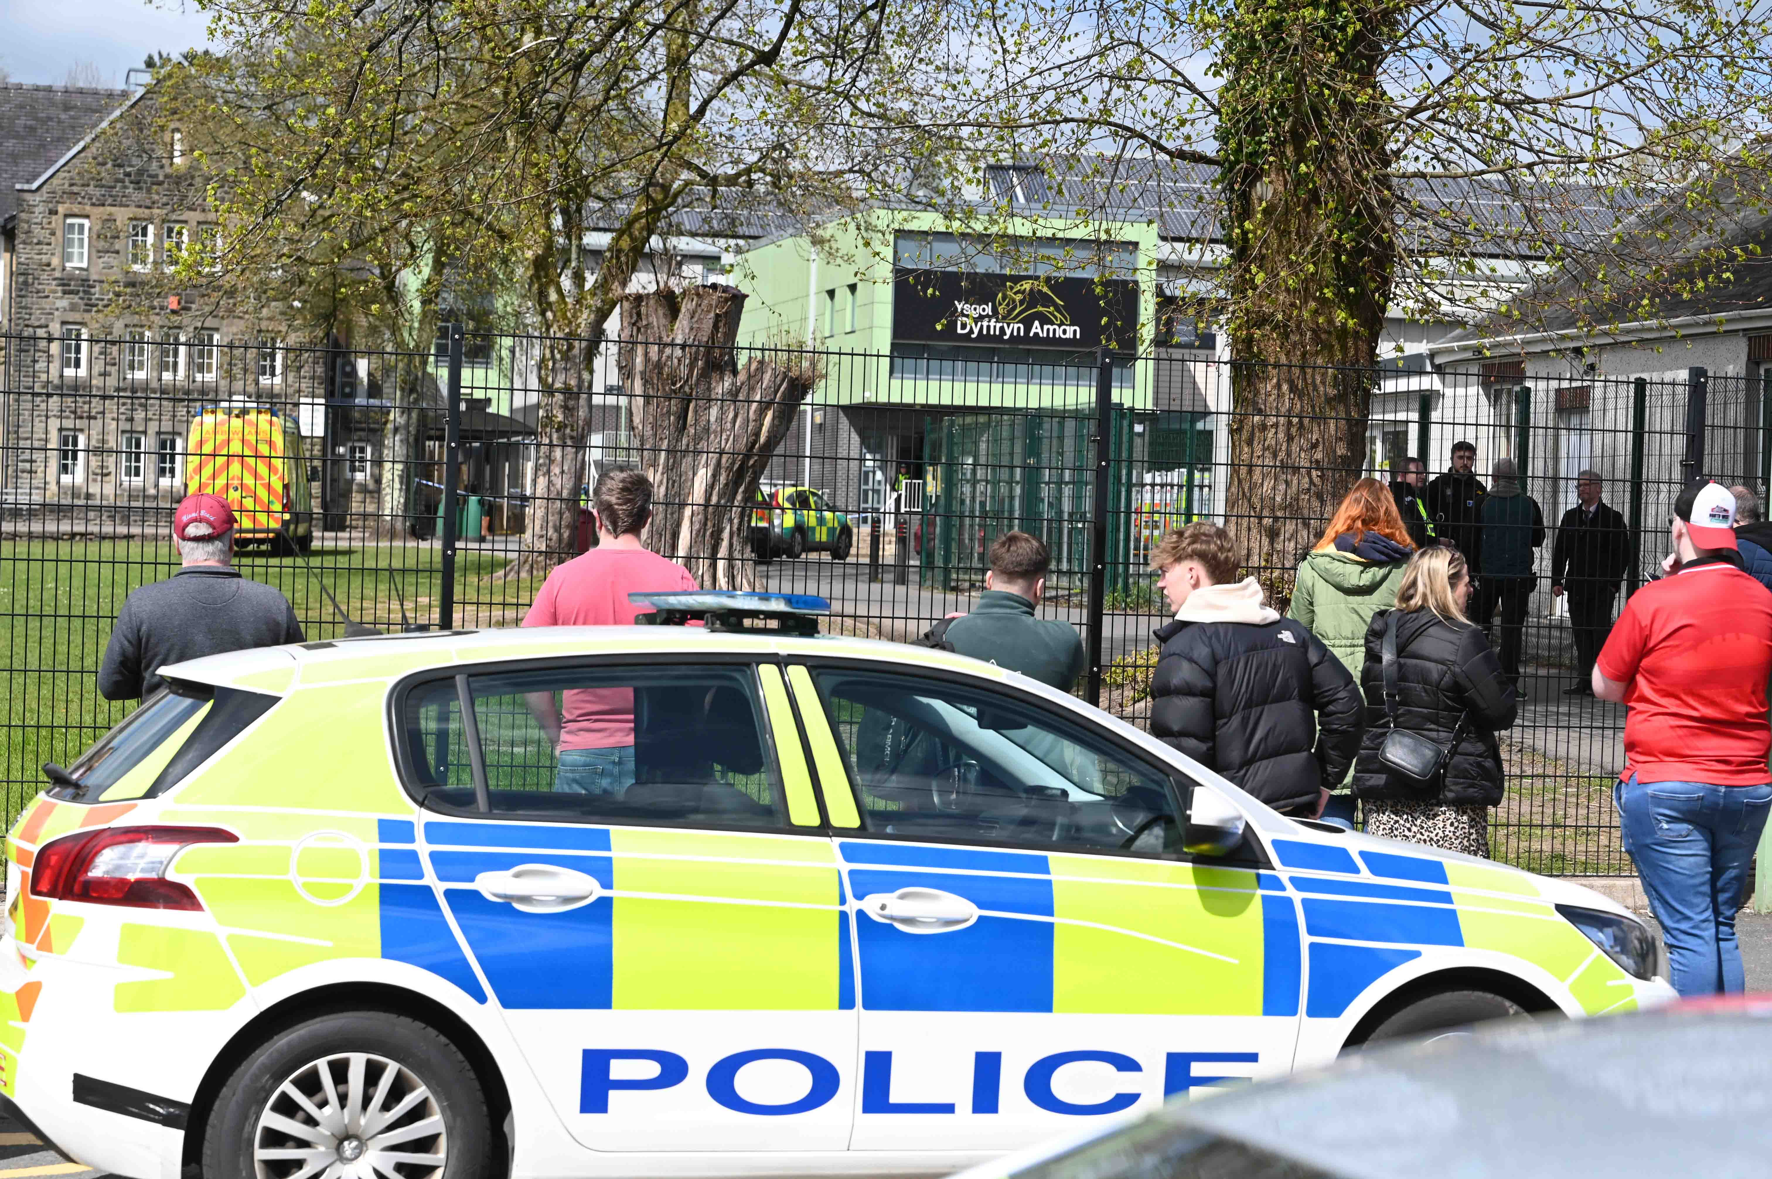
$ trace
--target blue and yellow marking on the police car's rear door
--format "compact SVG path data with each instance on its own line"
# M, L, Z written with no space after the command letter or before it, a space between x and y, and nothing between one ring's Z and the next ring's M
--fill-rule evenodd
M833 1011L854 1005L828 839L672 828L427 821L424 853L500 1003L512 1009ZM450 840L439 846L436 840ZM461 840L477 840L464 847ZM606 849L606 851L604 851ZM555 863L597 879L576 910L525 913L473 888Z

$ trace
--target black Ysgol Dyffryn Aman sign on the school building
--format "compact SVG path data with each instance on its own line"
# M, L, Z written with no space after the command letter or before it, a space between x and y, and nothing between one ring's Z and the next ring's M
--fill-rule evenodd
M893 340L1008 347L1134 347L1138 284L1069 275L893 271Z

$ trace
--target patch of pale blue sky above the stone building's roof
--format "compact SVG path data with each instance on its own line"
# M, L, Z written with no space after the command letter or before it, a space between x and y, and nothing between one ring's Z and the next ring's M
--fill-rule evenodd
M0 0L0 69L9 82L62 83L90 62L120 87L149 51L202 44L207 23L183 0Z

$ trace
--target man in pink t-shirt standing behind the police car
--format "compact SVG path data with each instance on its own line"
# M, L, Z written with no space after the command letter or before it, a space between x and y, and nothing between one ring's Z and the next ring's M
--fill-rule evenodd
M700 589L640 543L652 518L652 480L641 472L602 473L592 514L597 548L548 574L523 626L631 626L643 610L629 594ZM633 688L571 688L563 716L551 691L530 693L528 706L560 755L555 791L620 796L634 784Z

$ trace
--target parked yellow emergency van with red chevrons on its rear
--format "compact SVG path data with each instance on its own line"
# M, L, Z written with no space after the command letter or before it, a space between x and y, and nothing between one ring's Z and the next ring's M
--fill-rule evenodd
M220 495L239 521L234 543L280 557L314 544L314 493L296 418L269 406L206 406L186 440L184 495Z

